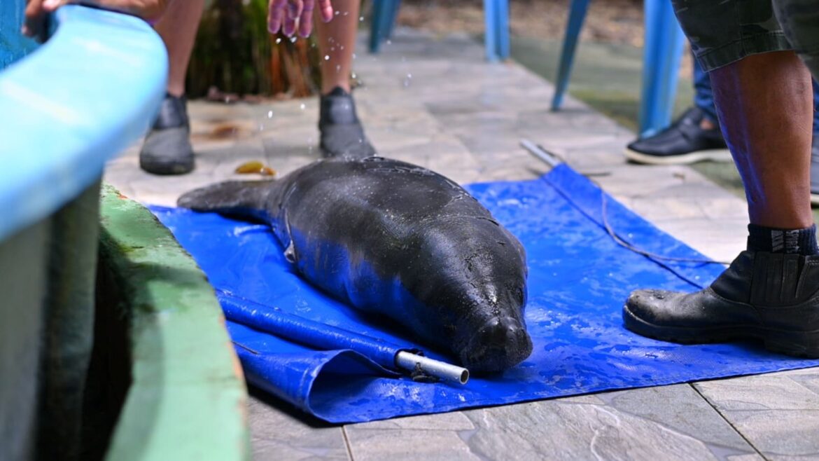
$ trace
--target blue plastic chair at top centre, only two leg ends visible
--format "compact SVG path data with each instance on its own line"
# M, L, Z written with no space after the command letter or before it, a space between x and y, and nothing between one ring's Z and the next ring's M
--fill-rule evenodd
M373 20L369 51L376 53L381 43L392 36L400 0L373 0ZM486 22L486 60L495 62L509 57L509 0L483 0Z

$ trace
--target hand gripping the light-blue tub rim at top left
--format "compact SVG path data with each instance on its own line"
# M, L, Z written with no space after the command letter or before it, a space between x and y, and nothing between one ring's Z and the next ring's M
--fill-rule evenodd
M124 11L126 13L139 16L145 20L155 20L165 11L172 0L97 0L93 3L100 7L111 8ZM186 0L182 0L186 1ZM57 8L66 3L74 3L76 0L26 0L25 22L21 32L28 37L44 39L45 21L48 13L56 11Z

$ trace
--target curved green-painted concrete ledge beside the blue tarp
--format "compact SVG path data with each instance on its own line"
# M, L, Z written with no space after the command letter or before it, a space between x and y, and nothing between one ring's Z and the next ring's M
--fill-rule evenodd
M102 190L97 309L127 318L130 386L106 459L250 457L247 390L213 289L151 212Z

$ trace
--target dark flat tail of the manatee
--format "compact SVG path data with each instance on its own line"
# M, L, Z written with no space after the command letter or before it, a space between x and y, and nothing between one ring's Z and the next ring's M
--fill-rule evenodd
M267 203L277 181L226 181L182 194L176 204L197 212L218 212L232 217L269 221Z

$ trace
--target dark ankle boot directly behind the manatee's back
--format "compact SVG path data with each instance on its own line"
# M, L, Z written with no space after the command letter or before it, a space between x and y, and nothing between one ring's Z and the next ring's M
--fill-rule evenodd
M319 115L321 142L324 157L364 158L375 155L375 149L364 135L355 102L351 94L336 87L321 97Z

